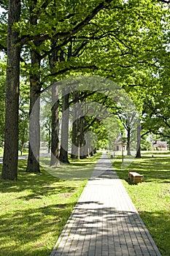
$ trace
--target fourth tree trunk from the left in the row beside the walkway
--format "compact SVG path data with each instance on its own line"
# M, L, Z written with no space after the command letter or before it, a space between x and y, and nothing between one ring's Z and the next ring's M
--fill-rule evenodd
M60 161L69 163L68 159L68 144L69 144L69 94L65 95L65 90L62 89L62 124L61 124L61 150Z

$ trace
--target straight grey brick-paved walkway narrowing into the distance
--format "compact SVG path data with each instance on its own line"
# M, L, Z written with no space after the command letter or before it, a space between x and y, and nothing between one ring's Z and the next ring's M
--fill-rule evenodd
M161 256L106 155L50 256Z

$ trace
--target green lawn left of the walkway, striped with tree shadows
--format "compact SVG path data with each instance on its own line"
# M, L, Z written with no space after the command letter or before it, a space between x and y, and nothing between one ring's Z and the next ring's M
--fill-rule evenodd
M100 155L73 161L64 170L92 171ZM20 160L18 181L0 181L1 256L49 255L87 183L87 178L61 180L45 170L25 170L26 160Z

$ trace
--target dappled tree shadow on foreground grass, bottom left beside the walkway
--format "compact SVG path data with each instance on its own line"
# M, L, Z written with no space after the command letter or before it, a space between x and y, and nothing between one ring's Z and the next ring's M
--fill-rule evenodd
M49 255L52 248L46 234L57 239L73 207L72 203L53 204L1 215L1 256ZM27 244L32 246L27 249Z

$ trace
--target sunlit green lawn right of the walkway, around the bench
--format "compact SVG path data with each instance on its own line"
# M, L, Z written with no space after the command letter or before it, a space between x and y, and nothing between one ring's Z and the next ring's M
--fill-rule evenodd
M154 152L134 159L128 169L144 175L142 184L128 181L128 169L122 170L121 159L112 159L113 167L139 211L161 255L170 255L170 153Z

